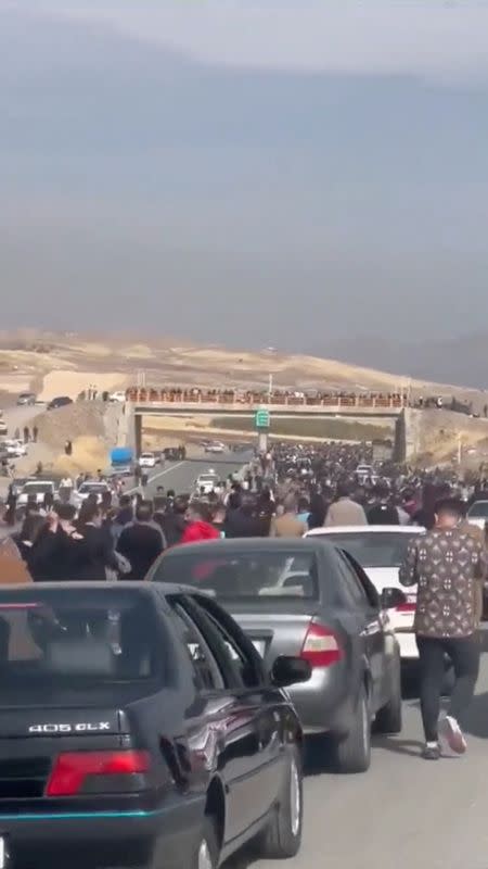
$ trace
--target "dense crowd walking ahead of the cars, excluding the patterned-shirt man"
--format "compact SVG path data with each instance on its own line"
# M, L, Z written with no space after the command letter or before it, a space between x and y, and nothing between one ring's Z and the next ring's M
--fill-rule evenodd
M439 498L458 494L467 504L485 486L393 463L373 470L371 448L339 443L278 445L239 481L220 480L207 494L158 487L150 500L142 486L132 494L114 486L77 507L66 496L72 481L62 483L59 501L49 493L46 503L27 503L11 536L35 581L143 579L166 547L219 537L299 538L321 526L368 524L428 529ZM10 503L15 511L15 499Z

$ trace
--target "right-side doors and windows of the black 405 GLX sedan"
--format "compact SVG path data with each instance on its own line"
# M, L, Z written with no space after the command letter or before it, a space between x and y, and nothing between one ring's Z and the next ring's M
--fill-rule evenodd
M215 601L196 593L189 606L233 703L226 738L226 783L229 823L242 832L266 817L281 792L290 735L287 704L271 685L251 640Z

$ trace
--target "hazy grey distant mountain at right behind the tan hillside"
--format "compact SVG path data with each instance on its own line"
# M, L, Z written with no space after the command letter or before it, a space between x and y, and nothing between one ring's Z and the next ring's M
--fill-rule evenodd
M488 390L488 333L427 341L337 339L310 352L403 377Z

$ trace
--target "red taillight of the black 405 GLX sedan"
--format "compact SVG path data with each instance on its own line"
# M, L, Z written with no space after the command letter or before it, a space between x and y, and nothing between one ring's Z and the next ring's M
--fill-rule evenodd
M149 772L149 752L65 752L51 772L47 796L75 796L92 776L138 776Z

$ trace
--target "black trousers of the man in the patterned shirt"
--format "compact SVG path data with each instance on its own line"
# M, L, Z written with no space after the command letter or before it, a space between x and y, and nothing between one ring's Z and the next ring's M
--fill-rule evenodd
M473 698L478 678L479 639L475 633L460 639L418 635L416 645L420 657L420 695L425 741L436 742L446 655L452 662L455 676L448 715L459 720Z

